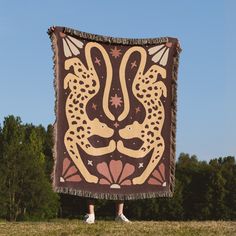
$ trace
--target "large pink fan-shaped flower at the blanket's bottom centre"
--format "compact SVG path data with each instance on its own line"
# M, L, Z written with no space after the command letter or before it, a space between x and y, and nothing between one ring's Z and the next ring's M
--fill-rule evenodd
M97 165L97 171L104 176L99 180L99 184L110 185L110 188L132 184L127 177L134 173L134 166L129 163L123 166L121 160L111 160L109 166L106 162L101 162Z

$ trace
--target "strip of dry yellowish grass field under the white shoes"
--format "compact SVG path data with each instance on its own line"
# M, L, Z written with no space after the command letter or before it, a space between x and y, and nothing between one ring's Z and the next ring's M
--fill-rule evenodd
M96 221L86 225L81 220L51 222L0 222L0 235L157 235L157 236L236 236L236 221L134 221L131 224Z

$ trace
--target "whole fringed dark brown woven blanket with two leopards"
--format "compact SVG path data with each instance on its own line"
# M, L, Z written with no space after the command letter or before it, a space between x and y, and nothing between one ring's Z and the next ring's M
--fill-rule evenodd
M174 191L178 40L48 31L54 52L54 191L98 199Z

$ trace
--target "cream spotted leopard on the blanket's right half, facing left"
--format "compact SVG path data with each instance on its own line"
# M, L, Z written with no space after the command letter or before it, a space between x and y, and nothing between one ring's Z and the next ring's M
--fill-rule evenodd
M157 82L156 80L158 74L160 74L163 79L166 78L166 70L158 65L152 65L147 72L144 73L147 60L146 51L138 46L131 47L127 50L120 66L121 87L124 91L124 101L127 102L124 104L125 109L119 117L120 120L124 119L129 112L129 99L125 84L125 68L130 55L134 52L140 53L141 61L132 84L132 92L144 105L146 118L141 124L134 121L133 124L127 125L125 128L119 130L119 134L123 139L138 137L142 139L144 143L140 149L133 150L126 148L122 140L119 140L117 142L117 149L120 153L133 158L143 158L154 149L144 172L133 179L133 184L143 184L160 161L165 149L164 139L161 135L165 111L160 98L161 96L167 96L167 90L162 81Z

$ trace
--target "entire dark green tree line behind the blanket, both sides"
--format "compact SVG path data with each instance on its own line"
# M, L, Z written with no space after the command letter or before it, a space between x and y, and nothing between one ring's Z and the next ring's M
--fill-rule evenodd
M0 218L9 221L82 218L86 199L52 190L53 127L5 117L0 127ZM236 220L233 156L199 161L181 153L172 198L126 201L134 220ZM112 218L114 202L96 200L98 217Z

